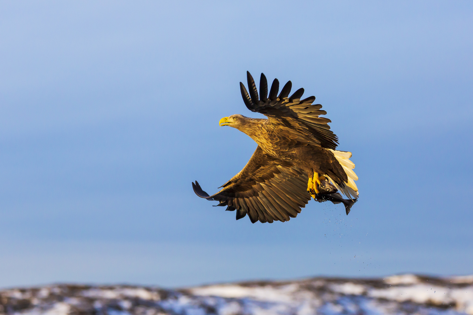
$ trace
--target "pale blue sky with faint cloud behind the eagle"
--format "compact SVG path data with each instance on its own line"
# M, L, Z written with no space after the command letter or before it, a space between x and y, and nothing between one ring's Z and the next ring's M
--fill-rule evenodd
M3 1L0 287L473 273L471 1ZM256 148L238 83L291 80L360 199L261 224L209 193Z

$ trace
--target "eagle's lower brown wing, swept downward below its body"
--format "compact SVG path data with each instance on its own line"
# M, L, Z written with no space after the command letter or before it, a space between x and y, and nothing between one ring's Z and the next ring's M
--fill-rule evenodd
M310 200L307 180L303 170L273 158L258 146L243 170L215 195L209 196L197 181L192 187L197 196L236 210L236 220L248 214L253 223L272 223L289 221L306 206Z

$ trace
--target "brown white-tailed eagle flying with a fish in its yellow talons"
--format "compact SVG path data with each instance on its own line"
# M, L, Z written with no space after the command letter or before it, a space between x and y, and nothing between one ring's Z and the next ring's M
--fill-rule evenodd
M268 81L260 78L260 91L246 72L248 91L240 82L241 95L250 111L268 119L231 115L220 119L220 126L236 128L250 136L258 147L243 170L228 180L215 195L192 187L197 196L219 201L216 206L236 210L236 220L248 214L252 223L289 221L309 200L343 203L348 215L357 201L358 180L349 159L350 152L337 151L338 137L330 130L327 112L312 104L315 96L301 100L304 89L289 96L291 81L279 92L274 79L268 95ZM343 199L341 192L348 199Z

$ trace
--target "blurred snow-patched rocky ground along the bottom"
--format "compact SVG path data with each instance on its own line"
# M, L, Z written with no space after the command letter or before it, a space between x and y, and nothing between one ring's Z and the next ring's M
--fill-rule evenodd
M473 276L311 278L185 289L58 284L0 290L0 314L473 314Z

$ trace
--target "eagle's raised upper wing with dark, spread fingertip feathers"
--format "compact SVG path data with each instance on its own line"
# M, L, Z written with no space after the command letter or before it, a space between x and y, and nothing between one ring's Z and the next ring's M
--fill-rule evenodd
M279 119L286 126L290 125L291 128L308 136L324 148L334 150L337 147L338 137L330 131L330 126L327 124L332 121L319 117L326 115L327 112L321 110L321 104L312 104L315 101L315 96L300 100L304 94L303 88L289 96L292 87L291 81L284 85L278 96L278 79L274 79L272 82L268 95L268 81L263 73L260 79L260 95L258 95L254 79L248 71L246 71L246 77L249 94L241 82L240 89L243 101L250 111L262 113L270 119L270 122L272 119Z

